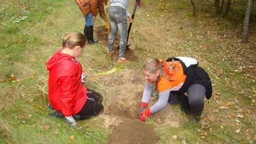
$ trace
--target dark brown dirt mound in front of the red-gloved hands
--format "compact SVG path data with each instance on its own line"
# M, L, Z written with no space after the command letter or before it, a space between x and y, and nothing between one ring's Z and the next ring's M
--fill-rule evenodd
M149 127L140 120L126 119L114 127L109 135L108 144L154 144L159 137L152 127Z

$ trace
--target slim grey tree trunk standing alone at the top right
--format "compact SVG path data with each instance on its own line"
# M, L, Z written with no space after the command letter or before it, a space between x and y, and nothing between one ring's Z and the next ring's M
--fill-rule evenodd
M248 36L249 36L249 24L250 24L250 15L252 13L252 6L253 6L253 0L248 0L246 13L244 17L244 32L243 32L243 43L248 42Z

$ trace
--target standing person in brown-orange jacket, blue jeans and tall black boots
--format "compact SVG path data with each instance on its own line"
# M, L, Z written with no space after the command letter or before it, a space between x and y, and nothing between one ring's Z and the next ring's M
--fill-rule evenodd
M84 15L84 35L87 37L88 44L97 43L98 41L93 38L93 22L98 12L101 19L107 21L104 4L108 4L108 0L76 0L76 3Z

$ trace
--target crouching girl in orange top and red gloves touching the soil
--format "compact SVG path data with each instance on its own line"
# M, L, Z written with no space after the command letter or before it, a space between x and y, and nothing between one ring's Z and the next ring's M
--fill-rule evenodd
M164 108L166 104L180 102L185 113L193 115L193 120L198 122L204 109L204 97L210 99L212 95L211 79L193 58L177 57L166 61L148 58L143 63L142 70L147 83L137 113L139 119L145 122L152 113ZM159 99L147 108L150 96L156 90ZM188 96L184 95L185 92Z

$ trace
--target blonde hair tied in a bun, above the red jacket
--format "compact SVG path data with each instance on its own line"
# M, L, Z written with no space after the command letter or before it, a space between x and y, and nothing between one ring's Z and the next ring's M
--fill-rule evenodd
M82 33L73 31L64 36L62 47L63 48L68 47L72 49L76 45L79 45L80 47L84 47L85 44L86 44L85 36Z

